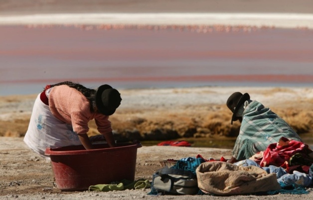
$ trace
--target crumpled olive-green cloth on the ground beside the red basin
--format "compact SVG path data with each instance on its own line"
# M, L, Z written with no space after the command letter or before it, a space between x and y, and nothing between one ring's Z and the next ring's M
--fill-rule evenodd
M149 180L139 179L136 181L130 181L123 179L120 182L112 182L111 184L98 184L95 186L90 186L89 191L100 191L100 192L109 192L109 191L122 191L122 190L138 190L150 188L151 184Z

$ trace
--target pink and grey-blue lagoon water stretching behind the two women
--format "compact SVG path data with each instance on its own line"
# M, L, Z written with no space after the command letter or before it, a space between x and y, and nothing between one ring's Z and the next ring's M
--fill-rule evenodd
M118 89L313 86L313 30L0 26L0 95L79 82Z

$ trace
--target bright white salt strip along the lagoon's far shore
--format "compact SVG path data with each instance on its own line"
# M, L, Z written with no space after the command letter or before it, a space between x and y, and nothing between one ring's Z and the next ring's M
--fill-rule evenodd
M0 25L229 25L313 29L302 13L54 13L0 15Z

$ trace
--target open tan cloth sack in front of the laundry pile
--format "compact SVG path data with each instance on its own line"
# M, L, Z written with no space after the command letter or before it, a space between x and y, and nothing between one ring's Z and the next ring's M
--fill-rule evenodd
M196 169L196 175L199 189L206 194L230 196L281 189L275 173L268 174L256 166L205 162Z

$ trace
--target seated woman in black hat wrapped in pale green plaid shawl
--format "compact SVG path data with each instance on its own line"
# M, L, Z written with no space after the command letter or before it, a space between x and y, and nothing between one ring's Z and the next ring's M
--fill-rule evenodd
M232 158L227 162L249 159L254 154L265 151L269 144L277 143L281 137L302 142L284 119L262 103L250 100L248 93L233 93L226 104L233 112L231 124L236 120L241 122Z

